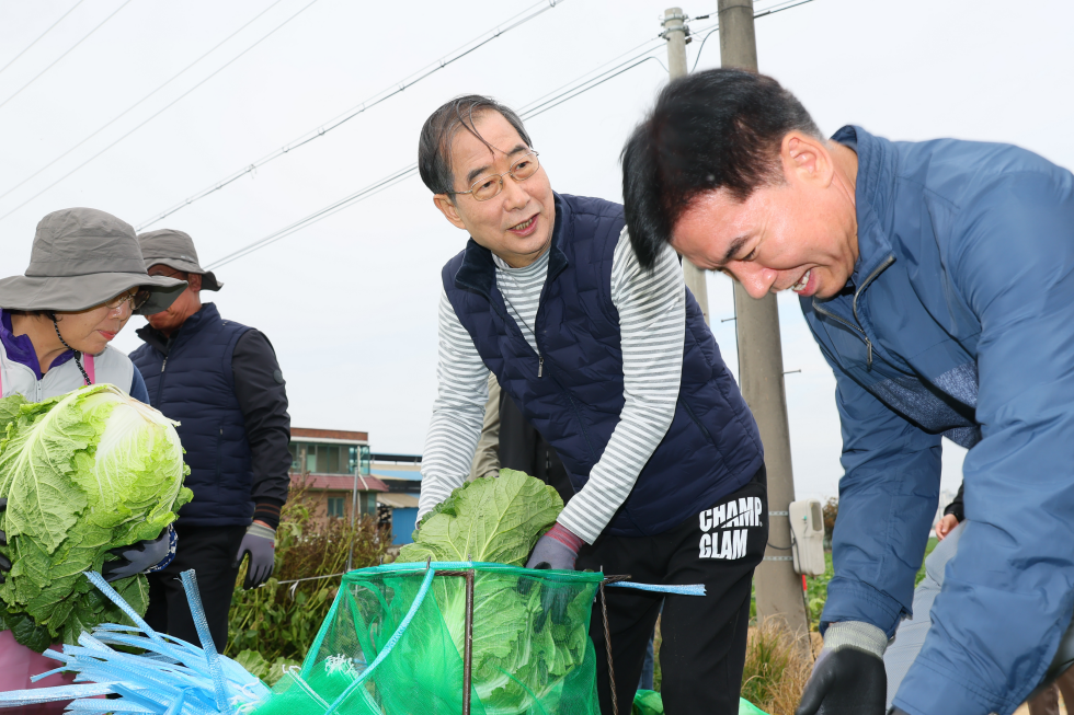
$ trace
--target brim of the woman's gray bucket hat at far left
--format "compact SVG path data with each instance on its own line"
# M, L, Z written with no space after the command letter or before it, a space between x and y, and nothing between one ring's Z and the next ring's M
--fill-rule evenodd
M144 273L92 273L84 276L11 276L0 280L0 308L75 313L136 287L150 291L138 315L159 313L175 302L186 281Z

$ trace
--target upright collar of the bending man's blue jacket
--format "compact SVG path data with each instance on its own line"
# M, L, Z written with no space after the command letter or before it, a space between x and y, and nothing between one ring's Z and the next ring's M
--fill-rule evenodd
M857 184L854 188L858 219L858 261L850 280L861 286L884 261L893 255L886 227L891 226L894 192L894 152L887 139L861 127L847 125L832 136L858 154Z

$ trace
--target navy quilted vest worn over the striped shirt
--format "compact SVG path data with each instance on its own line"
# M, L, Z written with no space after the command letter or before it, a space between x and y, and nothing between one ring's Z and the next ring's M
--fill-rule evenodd
M444 267L448 300L503 390L556 448L581 489L622 412L619 316L612 261L622 207L556 195L548 278L537 311L538 355L507 313L492 254L472 240ZM683 382L675 418L607 533L667 531L741 488L764 451L753 414L687 291Z

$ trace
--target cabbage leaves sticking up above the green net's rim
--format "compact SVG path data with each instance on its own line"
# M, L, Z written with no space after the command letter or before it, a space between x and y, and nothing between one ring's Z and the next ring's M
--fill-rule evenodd
M523 566L563 510L556 489L523 472L468 482L430 511L399 562L483 561Z

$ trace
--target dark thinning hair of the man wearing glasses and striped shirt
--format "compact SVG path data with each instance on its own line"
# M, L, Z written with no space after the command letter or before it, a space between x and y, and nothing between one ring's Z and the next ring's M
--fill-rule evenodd
M513 109L480 94L466 94L447 102L433 112L422 126L418 141L418 173L434 194L447 194L454 198L455 175L452 171L452 141L466 130L490 149L492 146L478 134L473 120L482 112L496 112L515 128L526 146L532 147L529 135L522 119Z

